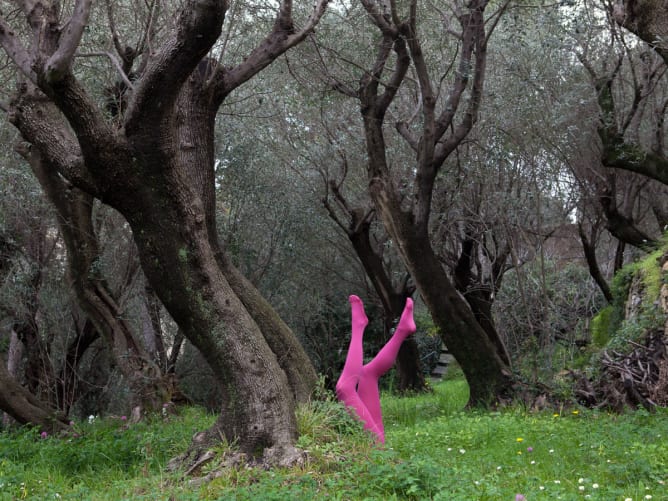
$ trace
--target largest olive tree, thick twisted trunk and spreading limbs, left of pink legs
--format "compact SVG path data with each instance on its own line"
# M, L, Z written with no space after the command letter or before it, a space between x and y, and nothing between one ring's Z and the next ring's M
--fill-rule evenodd
M309 394L315 372L219 243L214 127L226 97L301 42L326 2L301 12L290 0L248 6L255 11L235 4L229 14L222 0L186 1L176 12L148 2L133 41L123 38L136 33L116 23L123 2L105 11L77 0L66 12L68 4L24 0L11 2L21 13L11 17L9 4L0 11L0 43L17 70L16 92L2 108L54 175L126 218L147 280L221 385L220 418L207 437L294 460L295 399ZM235 45L253 12L262 21L274 12L274 20L254 46ZM82 61L111 62L114 106Z

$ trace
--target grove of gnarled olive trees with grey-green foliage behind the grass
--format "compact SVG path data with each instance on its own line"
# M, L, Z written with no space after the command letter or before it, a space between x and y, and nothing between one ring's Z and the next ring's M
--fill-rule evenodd
M401 389L442 341L470 405L554 390L668 223L641 4L1 1L0 409L139 419L183 382L196 448L299 461L351 293L369 346L416 298Z

